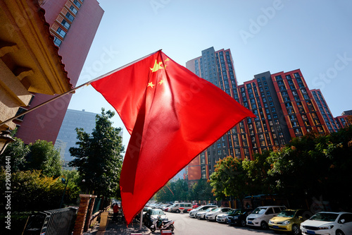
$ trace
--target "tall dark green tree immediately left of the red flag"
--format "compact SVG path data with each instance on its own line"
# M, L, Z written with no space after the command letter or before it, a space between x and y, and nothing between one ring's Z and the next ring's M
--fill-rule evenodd
M121 128L114 128L109 120L115 112L105 112L96 115L96 127L92 135L82 128L76 128L77 145L70 147L70 154L75 157L69 163L77 167L84 183L83 188L94 191L96 195L118 197L120 170L122 166L122 137L119 135Z

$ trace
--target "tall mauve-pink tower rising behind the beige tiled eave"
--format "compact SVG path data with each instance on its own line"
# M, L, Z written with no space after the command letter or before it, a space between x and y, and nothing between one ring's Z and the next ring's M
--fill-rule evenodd
M39 2L45 10L46 22L43 23L49 23L52 40L59 48L58 54L62 56L70 83L75 86L99 27L103 9L96 0ZM49 95L32 93L30 106L20 107L18 114L51 98L52 96ZM16 137L21 138L25 143L32 143L37 139L55 143L70 98L71 95L65 95L15 120L18 126Z

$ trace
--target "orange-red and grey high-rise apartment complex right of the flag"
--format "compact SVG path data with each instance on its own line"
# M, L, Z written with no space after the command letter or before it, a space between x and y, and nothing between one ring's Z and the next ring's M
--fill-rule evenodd
M320 90L309 90L299 69L260 73L238 85L230 49L210 47L201 54L187 61L186 67L224 90L256 118L244 119L190 162L186 169L189 183L208 179L215 163L229 155L251 160L256 153L310 131L324 134L339 128Z

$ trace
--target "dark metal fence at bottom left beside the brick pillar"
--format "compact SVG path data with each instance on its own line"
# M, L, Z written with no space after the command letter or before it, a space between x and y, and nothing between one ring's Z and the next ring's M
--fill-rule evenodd
M77 209L73 207L46 210L31 215L23 235L69 235L73 231Z

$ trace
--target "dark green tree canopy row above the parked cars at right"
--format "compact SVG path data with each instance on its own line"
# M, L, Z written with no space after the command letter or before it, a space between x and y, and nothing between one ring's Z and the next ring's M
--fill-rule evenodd
M253 161L226 157L215 167L210 184L218 200L229 195L323 196L335 207L348 208L352 204L352 127L329 135L308 133L254 155Z

